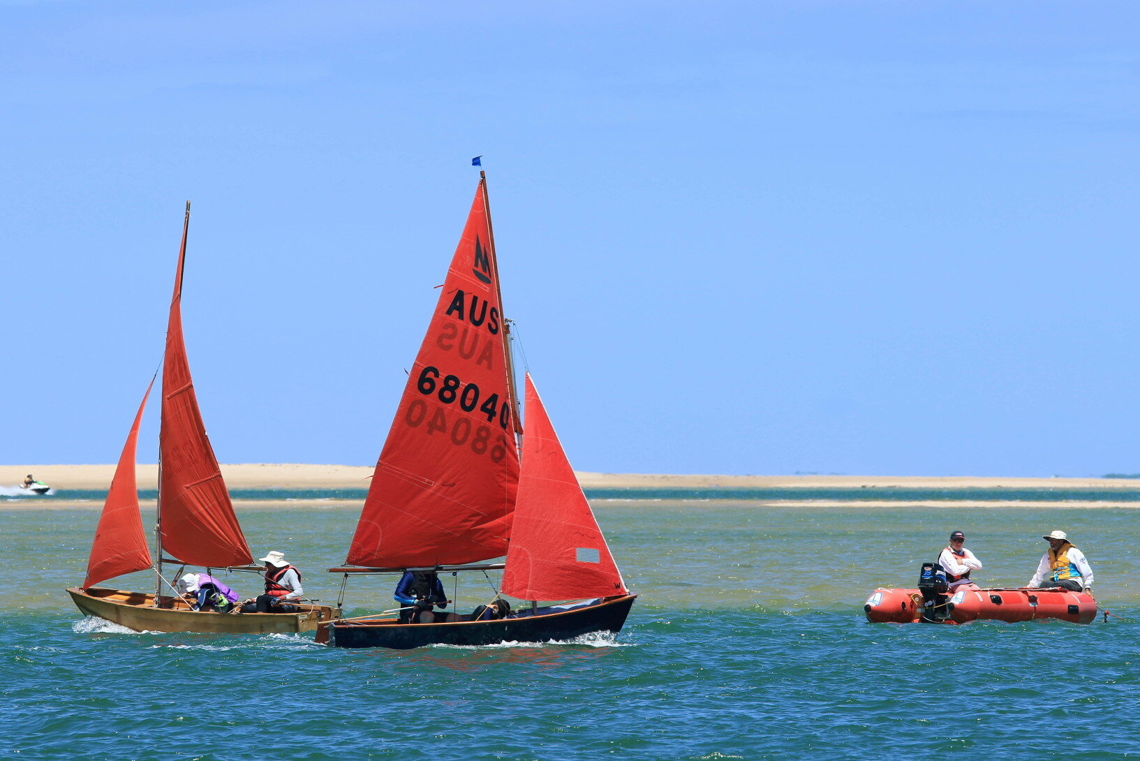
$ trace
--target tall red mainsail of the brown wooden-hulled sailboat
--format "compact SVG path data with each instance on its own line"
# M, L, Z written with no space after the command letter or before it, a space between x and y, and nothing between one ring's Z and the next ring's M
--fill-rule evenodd
M253 561L253 554L234 515L234 504L206 437L182 337L182 268L189 225L187 204L162 370L158 442L162 547L178 560L194 566L243 566Z

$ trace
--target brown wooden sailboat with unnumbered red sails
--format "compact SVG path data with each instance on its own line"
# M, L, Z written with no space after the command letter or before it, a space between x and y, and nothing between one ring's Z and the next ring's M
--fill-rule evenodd
M155 537L157 564L139 511L136 452L139 427L154 380L147 388L103 505L96 529L87 578L67 590L87 615L106 618L136 631L268 633L311 631L319 621L334 617L328 606L302 605L299 613L221 614L194 610L163 576L163 564L258 572L253 554L234 512L229 491L206 436L190 375L182 334L182 270L190 204L186 204L178 274L170 306L166 348L162 370L162 430L158 437L158 505ZM172 557L171 557L172 556ZM97 586L137 570L157 574L153 594ZM181 573L181 570L179 570ZM173 594L170 594L170 593ZM339 613L336 613L339 615Z

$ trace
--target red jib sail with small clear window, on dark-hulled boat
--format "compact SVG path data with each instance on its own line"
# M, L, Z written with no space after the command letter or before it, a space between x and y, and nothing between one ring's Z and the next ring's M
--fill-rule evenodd
M529 373L522 473L503 591L523 600L626 593L621 573Z

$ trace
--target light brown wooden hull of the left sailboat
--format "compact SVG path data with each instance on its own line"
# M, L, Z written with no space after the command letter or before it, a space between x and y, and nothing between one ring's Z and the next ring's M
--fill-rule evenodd
M161 597L155 607L154 594L92 586L84 590L67 588L72 601L82 613L111 621L135 631L198 634L294 634L316 631L323 621L336 617L337 610L327 605L302 604L301 613L214 613L192 610L186 600Z

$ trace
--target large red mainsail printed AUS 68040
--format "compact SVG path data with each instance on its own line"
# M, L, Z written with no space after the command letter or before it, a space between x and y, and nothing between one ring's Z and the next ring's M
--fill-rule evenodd
M407 567L506 551L519 453L486 180L373 475L348 562Z

